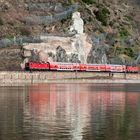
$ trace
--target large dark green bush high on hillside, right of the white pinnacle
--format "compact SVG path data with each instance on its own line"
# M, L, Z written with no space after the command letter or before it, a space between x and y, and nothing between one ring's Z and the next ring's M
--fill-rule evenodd
M102 22L104 26L108 24L108 15L110 14L109 10L105 7L99 6L99 10L95 13L97 20Z

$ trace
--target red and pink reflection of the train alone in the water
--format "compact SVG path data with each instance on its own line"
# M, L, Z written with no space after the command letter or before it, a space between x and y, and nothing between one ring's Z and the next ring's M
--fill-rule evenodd
M119 106L123 110L126 100L125 92L94 91L85 85L39 84L30 86L29 102L31 109L36 108L36 113L47 111L56 112L58 107L64 111L79 108L82 112L90 112L91 106L102 107L106 110L110 106ZM137 94L128 94L129 102L136 102ZM44 108L46 108L44 110Z

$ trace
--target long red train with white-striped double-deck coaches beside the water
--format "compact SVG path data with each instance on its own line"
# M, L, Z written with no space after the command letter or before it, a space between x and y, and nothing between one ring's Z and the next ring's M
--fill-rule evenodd
M48 70L48 71L95 71L95 72L132 72L137 73L138 67L113 65L113 64L80 64L59 62L28 62L25 70Z

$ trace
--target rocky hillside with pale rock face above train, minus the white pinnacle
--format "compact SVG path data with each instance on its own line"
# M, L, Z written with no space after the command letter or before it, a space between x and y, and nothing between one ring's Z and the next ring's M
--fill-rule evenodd
M137 65L139 9L138 0L0 0L0 52L13 52L5 53L9 61L1 69L19 69L25 58ZM76 11L84 25L80 37L72 27Z

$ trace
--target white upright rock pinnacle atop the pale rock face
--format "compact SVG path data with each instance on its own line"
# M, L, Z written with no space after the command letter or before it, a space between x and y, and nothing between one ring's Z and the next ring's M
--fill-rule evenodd
M73 25L70 27L71 32L76 32L77 34L83 34L84 31L84 22L81 19L80 13L75 12L72 15Z

